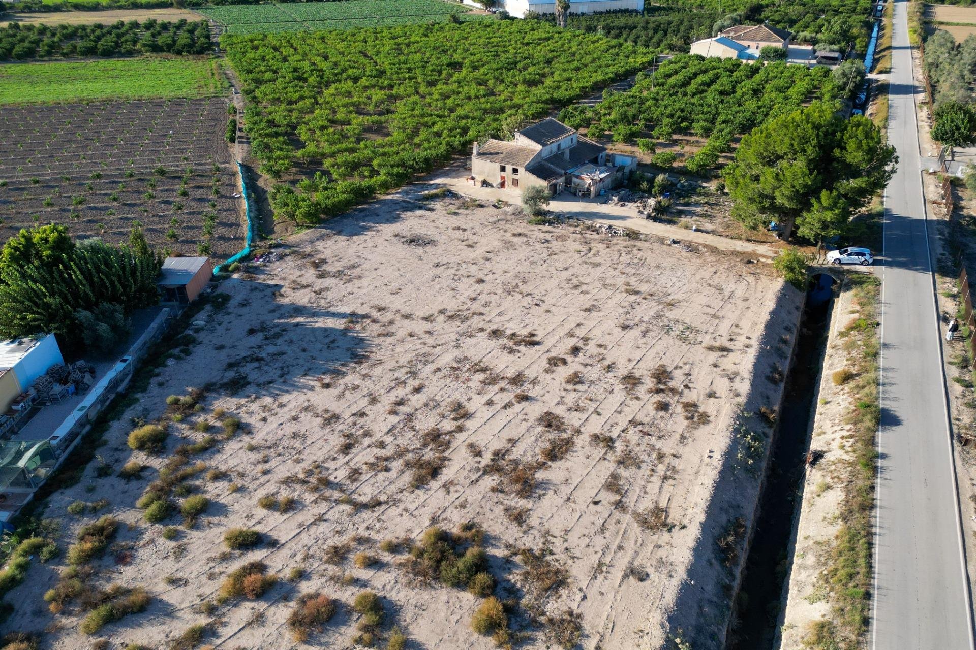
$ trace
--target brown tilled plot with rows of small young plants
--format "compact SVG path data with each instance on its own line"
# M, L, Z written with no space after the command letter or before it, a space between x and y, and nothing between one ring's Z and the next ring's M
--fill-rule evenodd
M16 106L0 120L0 238L57 222L109 242L142 224L153 246L243 248L223 98ZM198 249L198 247L200 247Z

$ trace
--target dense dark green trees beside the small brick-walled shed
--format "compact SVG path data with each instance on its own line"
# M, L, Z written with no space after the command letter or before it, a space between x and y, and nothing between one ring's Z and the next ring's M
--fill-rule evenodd
M122 247L75 243L60 225L21 230L0 252L0 336L110 346L133 309L158 300L160 265L138 229Z

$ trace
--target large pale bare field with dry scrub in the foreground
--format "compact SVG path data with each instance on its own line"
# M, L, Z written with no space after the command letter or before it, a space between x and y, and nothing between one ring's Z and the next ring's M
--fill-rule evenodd
M724 634L727 603L712 597L735 580L737 518L752 516L751 461L768 437L741 410L779 401L792 287L728 253L530 226L514 209L422 201L416 188L274 250L221 285L226 303L195 319L198 341L106 434L104 462L144 463L142 477L93 467L50 500L65 543L102 514L130 524L89 584L142 586L152 600L99 636L171 647L206 624L202 642L219 647L298 647L286 621L317 592L339 604L308 642L346 648L362 618L354 596L370 589L382 636L397 626L408 647L490 648L469 627L479 597L411 575L402 543L381 550L466 522L485 532L517 647L572 647L577 625L586 648L663 647L679 628L711 647ZM166 398L188 387L206 390L203 408L173 421ZM205 467L173 497L203 494L209 509L164 539L180 517L148 524L135 502L179 443L203 439L196 423L230 414L241 431L215 427L216 445L189 460ZM169 420L162 455L126 446L131 418ZM100 498L99 515L65 515ZM263 543L228 551L232 526ZM255 560L278 582L216 606L227 574ZM61 562L35 563L8 594L20 604L7 628L86 647L83 604L53 615L41 600Z

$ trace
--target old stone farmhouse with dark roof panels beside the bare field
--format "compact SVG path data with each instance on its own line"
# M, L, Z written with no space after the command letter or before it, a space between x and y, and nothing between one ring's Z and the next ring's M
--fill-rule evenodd
M538 185L549 195L569 189L595 197L617 187L636 169L633 156L610 153L558 120L547 118L517 132L511 140L475 142L468 180L513 194Z

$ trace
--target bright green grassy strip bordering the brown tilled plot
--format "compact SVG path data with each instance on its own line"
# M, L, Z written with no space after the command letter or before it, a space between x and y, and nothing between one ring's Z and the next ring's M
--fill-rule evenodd
M0 105L212 96L225 83L215 61L199 58L12 63L0 65Z

